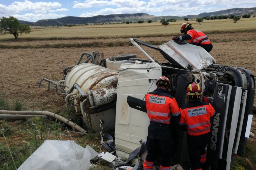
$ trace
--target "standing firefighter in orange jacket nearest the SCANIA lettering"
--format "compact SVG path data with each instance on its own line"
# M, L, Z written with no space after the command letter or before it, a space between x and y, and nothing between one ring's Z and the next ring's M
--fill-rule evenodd
M210 103L200 101L202 89L199 84L191 83L186 88L189 97L188 104L180 108L180 129L188 130L188 157L192 170L205 167L205 148L210 140L210 118L215 116L215 110Z

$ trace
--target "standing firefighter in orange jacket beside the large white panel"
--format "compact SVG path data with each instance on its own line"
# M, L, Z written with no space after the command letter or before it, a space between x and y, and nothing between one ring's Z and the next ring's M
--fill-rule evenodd
M179 121L179 106L167 91L170 81L166 76L156 82L157 88L145 96L147 115L150 119L147 136L147 156L143 163L144 170L152 170L157 154L161 152L160 170L169 170L173 153L173 139L170 118Z

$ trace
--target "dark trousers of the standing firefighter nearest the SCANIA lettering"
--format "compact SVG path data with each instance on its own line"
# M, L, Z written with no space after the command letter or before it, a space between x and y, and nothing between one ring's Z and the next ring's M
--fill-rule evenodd
M187 136L188 142L188 158L191 164L191 169L201 169L201 155L205 154L205 148L210 139L210 133L199 136Z

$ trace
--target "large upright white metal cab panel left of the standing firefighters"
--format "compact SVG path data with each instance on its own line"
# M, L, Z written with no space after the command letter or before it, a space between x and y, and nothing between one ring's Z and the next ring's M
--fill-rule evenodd
M146 141L149 118L147 113L130 108L127 97L144 100L145 94L156 89L156 79L161 76L157 63L123 63L120 67L117 87L115 122L115 147L119 157L129 154ZM145 154L144 154L145 156ZM144 158L141 158L144 160ZM136 159L133 159L135 161Z

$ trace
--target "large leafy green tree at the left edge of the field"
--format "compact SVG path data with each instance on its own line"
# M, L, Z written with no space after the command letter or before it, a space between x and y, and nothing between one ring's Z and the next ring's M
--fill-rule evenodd
M19 35L23 35L23 33L29 34L31 29L27 24L21 25L18 19L13 16L9 16L9 18L3 16L0 20L0 32L3 31L9 31L17 40Z

